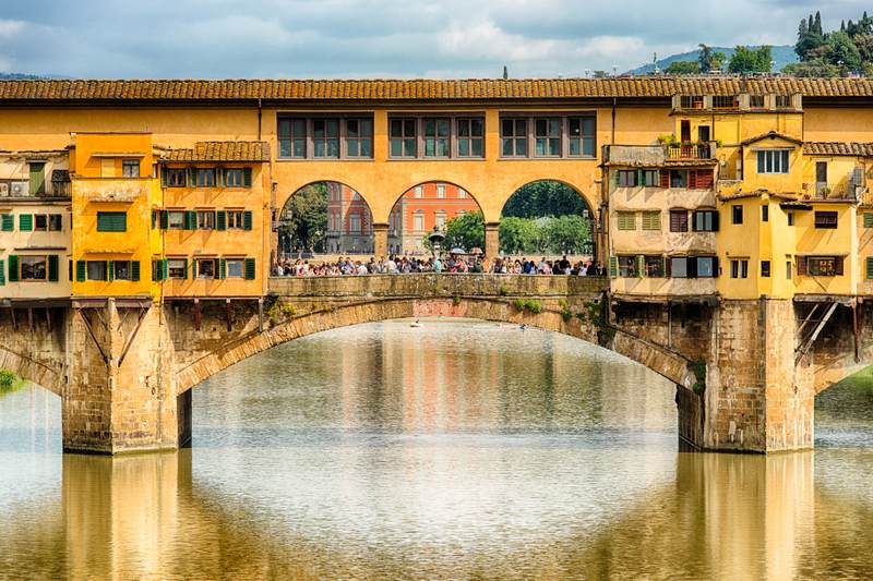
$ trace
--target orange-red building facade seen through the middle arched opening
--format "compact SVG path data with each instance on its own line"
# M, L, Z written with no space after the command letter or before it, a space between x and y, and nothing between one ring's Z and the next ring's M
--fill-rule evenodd
M483 210L479 201L465 186L449 180L415 183L391 207L388 251L397 254L424 252L422 241L428 232L470 211Z

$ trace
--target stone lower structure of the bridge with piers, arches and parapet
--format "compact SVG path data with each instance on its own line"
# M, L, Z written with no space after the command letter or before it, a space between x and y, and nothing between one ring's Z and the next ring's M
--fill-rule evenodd
M0 308L0 367L61 397L64 450L177 448L191 438L191 389L246 358L361 323L471 317L610 349L677 385L682 439L768 452L812 447L815 395L873 361L869 303L828 304L630 304L594 277L272 278L254 299L12 303Z

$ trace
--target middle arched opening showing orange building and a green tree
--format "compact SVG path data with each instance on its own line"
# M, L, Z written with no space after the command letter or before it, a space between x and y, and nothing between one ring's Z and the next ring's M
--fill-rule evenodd
M431 181L407 190L388 216L388 253L430 255L429 235L445 234L443 250L474 253L485 246L485 222L478 202L464 187Z

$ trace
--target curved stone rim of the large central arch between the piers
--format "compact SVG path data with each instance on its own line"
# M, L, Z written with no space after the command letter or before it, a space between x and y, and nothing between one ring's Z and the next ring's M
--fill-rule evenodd
M262 332L250 334L226 343L219 350L190 362L178 371L177 395L243 359L315 332L362 323L428 316L526 324L561 332L624 355L674 384L686 388L694 384L689 360L678 352L614 327L609 327L601 334L603 329L598 330L587 320L583 322L577 317L565 320L559 311L545 310L538 314L519 312L512 301L498 298L392 298L361 301L295 316Z

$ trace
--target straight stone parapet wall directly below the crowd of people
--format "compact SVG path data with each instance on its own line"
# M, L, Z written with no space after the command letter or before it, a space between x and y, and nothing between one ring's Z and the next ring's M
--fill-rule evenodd
M345 277L274 277L270 292L282 296L593 296L609 290L599 277L409 274Z

